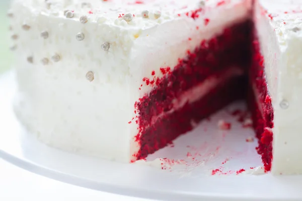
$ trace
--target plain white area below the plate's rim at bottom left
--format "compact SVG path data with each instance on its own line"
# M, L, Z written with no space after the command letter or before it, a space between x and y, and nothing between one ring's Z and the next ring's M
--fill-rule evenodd
M65 184L23 170L0 159L0 200L151 201Z

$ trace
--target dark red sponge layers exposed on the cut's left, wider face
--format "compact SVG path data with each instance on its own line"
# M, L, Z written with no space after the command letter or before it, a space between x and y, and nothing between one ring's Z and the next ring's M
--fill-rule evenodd
M188 51L187 57L179 59L177 66L163 68L166 76L156 80L154 89L135 104L139 115L139 130L135 140L140 149L134 155L137 159L145 158L192 130L192 121L197 123L233 100L245 96L247 78L245 75L234 75L217 84L194 103L187 103L171 113L174 100L204 83L207 78L219 77L234 67L243 71L247 69L252 49L251 27L252 23L247 21L226 28L221 35L202 41L194 52Z

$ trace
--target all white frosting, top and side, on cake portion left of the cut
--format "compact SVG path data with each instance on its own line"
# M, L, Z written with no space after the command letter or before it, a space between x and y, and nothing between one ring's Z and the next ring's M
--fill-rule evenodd
M79 0L13 2L10 12L14 14L12 34L18 35L13 43L19 82L15 109L46 144L127 162L139 149L133 140L137 125L128 124L136 116L134 103L152 89L142 78L152 77L153 70L160 77L161 67L175 66L203 39L247 19L251 7L250 0L229 0L221 6L217 6L220 1L209 0L193 20L185 13L198 9L199 0L189 5L183 0L133 5L134 1L121 0L85 2L91 8L82 7ZM141 16L146 9L148 19ZM72 10L74 17L64 17L65 10ZM155 19L159 11L161 17ZM125 13L135 17L129 23L118 18ZM88 16L86 24L80 22L83 15ZM206 18L210 20L207 26ZM47 39L40 36L44 31ZM77 33L85 39L75 39ZM104 42L110 43L108 51L102 49ZM54 55L59 55L58 62L51 59ZM28 57L33 63L27 62ZM41 62L44 58L49 60L47 65ZM89 71L94 73L91 82L86 79Z

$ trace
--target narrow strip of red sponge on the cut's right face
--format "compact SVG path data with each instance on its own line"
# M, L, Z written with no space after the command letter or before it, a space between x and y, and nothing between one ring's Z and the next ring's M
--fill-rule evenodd
M264 73L264 58L260 53L258 40L253 41L253 58L249 70L250 90L248 103L252 113L253 125L259 139L257 151L261 154L266 171L271 169L273 133L273 108L268 94Z

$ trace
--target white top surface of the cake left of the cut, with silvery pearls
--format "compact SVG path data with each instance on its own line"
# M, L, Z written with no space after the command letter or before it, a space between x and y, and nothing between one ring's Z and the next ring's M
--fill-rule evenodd
M148 28L177 18L197 18L204 11L230 8L250 0L15 0L32 12L79 21ZM67 11L70 11L66 14ZM130 25L130 26L128 26Z

